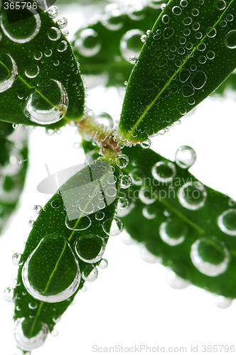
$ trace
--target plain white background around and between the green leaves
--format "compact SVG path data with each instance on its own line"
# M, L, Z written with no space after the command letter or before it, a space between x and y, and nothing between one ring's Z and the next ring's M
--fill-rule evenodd
M97 112L107 111L114 121L119 119L122 101L115 90L92 90L88 94L89 107ZM173 159L178 146L192 146L198 158L191 173L236 199L235 109L233 97L207 99L193 114L181 119L181 125L153 138L151 148ZM46 136L44 129L31 131L26 188L0 239L0 294L14 285L17 267L11 256L23 252L30 231L28 220L37 217L33 206L43 206L50 198L36 190L38 182L47 175L45 164L50 173L55 173L84 161L82 151L73 148L79 136L72 127L52 137ZM236 349L236 303L220 310L215 307L213 296L204 290L193 286L171 289L166 284L165 268L142 261L138 246L125 246L119 236L109 239L104 258L108 260L108 268L99 271L94 283L87 284L86 293L78 293L76 304L69 307L56 327L58 337L49 335L45 345L33 354L90 355L94 354L92 345L116 344L159 345L166 349L187 346L188 354L191 344L198 344L199 352L201 344L235 344ZM18 354L14 351L12 312L13 305L1 297L0 354L3 355Z

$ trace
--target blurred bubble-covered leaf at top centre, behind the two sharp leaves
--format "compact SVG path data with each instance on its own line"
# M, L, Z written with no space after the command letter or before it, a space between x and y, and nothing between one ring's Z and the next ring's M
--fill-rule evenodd
M101 19L80 28L72 46L85 75L108 76L106 85L123 86L132 71L129 57L139 55L141 35L153 26L162 1L149 1L124 10L109 5Z

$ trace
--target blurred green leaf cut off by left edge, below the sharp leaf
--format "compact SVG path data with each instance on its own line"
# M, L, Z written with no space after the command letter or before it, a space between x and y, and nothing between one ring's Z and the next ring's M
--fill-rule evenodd
M20 148L18 148L20 143ZM27 134L23 126L0 122L0 231L18 204L28 167Z

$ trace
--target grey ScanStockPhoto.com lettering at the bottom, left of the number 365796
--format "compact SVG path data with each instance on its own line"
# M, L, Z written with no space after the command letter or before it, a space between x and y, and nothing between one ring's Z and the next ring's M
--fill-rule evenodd
M193 351L189 349L190 352ZM173 353L173 354L186 354L188 349L186 346L148 346L146 344L134 344L132 346L124 346L121 344L116 344L114 346L98 346L92 345L93 353L102 353L102 354L165 354L165 353Z

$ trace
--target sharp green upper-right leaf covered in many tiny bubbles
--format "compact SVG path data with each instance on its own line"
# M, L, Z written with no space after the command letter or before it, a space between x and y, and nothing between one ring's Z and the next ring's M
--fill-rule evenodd
M235 0L171 0L129 77L119 131L144 141L171 126L236 67Z

